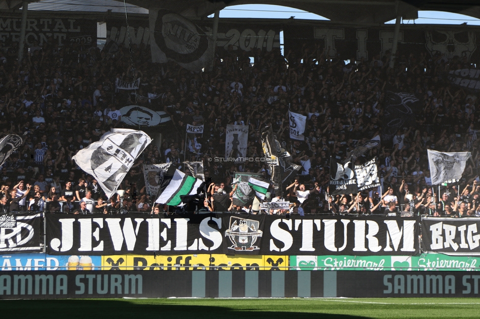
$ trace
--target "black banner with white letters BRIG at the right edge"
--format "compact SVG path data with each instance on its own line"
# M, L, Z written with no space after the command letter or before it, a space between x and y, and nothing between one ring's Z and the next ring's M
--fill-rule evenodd
M478 218L433 218L421 222L421 248L456 255L480 255Z

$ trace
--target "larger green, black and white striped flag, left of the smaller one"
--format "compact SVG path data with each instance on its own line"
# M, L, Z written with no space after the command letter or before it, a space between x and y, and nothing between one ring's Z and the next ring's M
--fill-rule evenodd
M155 203L177 206L181 204L181 195L195 195L197 188L202 185L202 180L193 176L187 176L178 169L173 175L172 181L162 192Z

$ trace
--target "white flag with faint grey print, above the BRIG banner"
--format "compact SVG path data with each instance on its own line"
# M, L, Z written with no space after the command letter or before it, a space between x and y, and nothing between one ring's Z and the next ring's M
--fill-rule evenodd
M444 183L448 180L459 180L467 160L472 156L470 152L443 153L427 150L428 165L432 185Z

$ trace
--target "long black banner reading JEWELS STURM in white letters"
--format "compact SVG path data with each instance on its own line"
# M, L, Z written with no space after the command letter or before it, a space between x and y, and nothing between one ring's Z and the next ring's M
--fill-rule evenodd
M46 216L48 254L419 255L420 219L386 216L278 218Z

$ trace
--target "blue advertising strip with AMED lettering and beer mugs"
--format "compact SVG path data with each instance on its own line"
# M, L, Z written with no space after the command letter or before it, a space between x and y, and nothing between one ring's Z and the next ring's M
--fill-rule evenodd
M100 270L101 256L0 255L0 270Z

